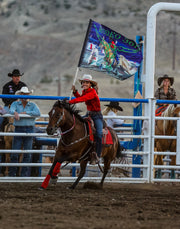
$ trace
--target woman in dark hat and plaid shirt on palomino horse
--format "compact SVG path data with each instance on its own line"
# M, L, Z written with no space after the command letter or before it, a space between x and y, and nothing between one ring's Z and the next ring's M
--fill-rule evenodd
M156 99L163 100L176 100L176 91L172 87L174 83L174 77L169 77L165 74L162 77L159 77L157 80L158 89L155 91ZM161 116L162 112L166 110L168 104L158 104L156 109L156 116Z

